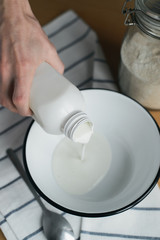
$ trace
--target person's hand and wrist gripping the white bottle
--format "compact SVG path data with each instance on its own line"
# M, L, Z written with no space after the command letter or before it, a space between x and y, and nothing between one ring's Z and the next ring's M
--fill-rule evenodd
M16 10L15 10L16 9ZM37 67L47 62L59 73L64 65L35 18L28 0L0 0L0 104L28 116Z

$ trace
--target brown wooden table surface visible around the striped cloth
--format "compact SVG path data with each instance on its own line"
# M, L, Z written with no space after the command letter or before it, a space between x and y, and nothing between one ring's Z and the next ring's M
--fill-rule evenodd
M126 30L123 24L124 16L121 14L123 3L124 0L30 0L32 10L41 25L46 24L66 10L76 11L97 32L116 80L120 46ZM160 111L151 111L151 114L160 126ZM4 239L0 231L0 240Z

